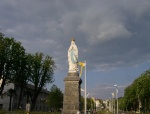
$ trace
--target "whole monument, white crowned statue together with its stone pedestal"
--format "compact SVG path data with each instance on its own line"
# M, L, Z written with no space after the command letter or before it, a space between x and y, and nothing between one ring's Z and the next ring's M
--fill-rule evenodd
M68 49L69 71L65 82L65 91L63 98L63 114L78 114L81 101L81 83L82 80L78 73L78 48L75 39L71 39L71 45Z

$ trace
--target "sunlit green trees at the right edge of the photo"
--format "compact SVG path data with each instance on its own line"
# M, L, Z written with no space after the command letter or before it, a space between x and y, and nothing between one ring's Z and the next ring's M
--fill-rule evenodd
M124 97L120 101L122 108L137 110L150 110L150 70L147 70L124 90ZM122 104L124 103L124 105ZM123 107L124 106L124 107Z

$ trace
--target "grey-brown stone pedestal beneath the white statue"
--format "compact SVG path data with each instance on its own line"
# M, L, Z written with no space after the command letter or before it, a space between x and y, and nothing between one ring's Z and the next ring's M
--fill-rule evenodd
M80 111L80 85L82 81L78 73L68 73L64 81L63 114L77 114Z

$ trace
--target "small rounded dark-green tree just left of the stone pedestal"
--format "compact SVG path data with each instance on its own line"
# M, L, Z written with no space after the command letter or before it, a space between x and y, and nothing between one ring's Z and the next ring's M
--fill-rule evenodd
M53 85L50 89L48 104L55 111L59 111L63 106L63 93L56 85Z

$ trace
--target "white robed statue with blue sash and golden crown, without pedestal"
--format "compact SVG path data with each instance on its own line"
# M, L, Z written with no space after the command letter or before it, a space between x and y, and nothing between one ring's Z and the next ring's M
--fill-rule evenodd
M72 38L71 45L68 50L69 72L78 72L78 48L75 39Z

